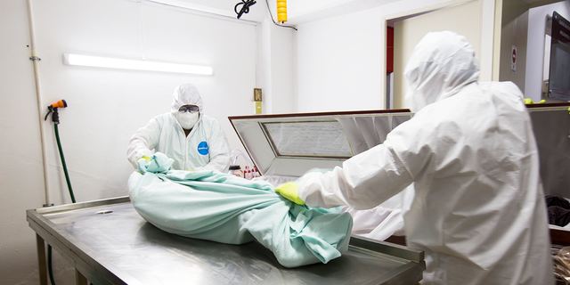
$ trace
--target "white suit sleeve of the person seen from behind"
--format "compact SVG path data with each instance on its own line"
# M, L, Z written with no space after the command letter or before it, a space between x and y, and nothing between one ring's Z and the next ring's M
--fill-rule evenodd
M430 163L426 128L422 119L412 118L388 134L384 143L347 159L342 167L303 175L297 181L299 198L311 207L378 206L413 183Z

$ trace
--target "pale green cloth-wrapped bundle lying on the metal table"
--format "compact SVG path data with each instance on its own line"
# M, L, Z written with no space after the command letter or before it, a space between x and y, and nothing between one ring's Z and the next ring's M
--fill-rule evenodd
M134 208L159 229L227 244L257 240L285 267L326 264L348 249L350 214L299 206L263 181L171 170L170 160L159 152L140 159L128 181Z

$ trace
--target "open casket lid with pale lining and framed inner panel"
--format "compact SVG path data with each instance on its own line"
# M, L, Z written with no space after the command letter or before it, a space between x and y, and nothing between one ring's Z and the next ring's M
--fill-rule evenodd
M334 168L384 142L410 110L297 113L229 117L262 175L301 176Z

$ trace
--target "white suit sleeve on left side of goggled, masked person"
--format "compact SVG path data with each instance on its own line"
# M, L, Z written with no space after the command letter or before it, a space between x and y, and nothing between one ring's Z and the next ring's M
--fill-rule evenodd
M142 157L151 157L154 148L159 142L162 124L157 118L151 118L146 126L139 128L128 142L126 149L126 159L136 168L136 162Z

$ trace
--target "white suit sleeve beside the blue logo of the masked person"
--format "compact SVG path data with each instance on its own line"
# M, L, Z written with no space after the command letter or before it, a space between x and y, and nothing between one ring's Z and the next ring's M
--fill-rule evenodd
M210 162L203 167L204 170L218 170L226 173L230 167L230 143L225 136L224 129L217 121L211 124L210 137L208 139L208 148L210 154Z

